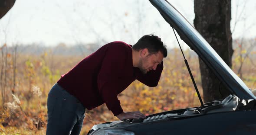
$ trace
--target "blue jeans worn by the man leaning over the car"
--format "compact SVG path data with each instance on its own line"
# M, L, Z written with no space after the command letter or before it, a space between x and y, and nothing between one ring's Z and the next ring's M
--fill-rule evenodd
M47 98L46 135L79 135L85 118L85 107L66 90L55 84Z

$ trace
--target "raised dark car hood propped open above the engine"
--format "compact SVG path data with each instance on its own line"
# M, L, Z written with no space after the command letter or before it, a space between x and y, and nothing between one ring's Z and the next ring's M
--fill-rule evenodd
M194 50L231 93L240 99L256 99L246 84L213 50L199 32L167 0L149 0L181 39ZM171 29L170 29L171 30Z

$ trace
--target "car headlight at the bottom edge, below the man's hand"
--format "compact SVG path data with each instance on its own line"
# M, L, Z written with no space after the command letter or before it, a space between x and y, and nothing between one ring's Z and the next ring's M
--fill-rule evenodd
M134 132L126 131L124 129L98 129L93 131L90 135L135 135Z

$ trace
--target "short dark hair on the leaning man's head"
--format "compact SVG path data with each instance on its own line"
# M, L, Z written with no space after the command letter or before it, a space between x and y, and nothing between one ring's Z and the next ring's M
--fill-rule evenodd
M138 42L132 46L132 48L136 51L147 48L149 54L157 54L158 51L161 51L164 58L167 56L166 45L164 45L164 43L161 42L161 39L154 34L142 36L141 39L139 39Z

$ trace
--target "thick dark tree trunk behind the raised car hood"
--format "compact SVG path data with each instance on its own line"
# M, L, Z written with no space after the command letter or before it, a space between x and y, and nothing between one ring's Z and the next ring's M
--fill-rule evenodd
M232 36L230 32L231 0L194 0L194 26L220 55L232 66ZM223 99L230 94L199 58L203 99L205 102Z

